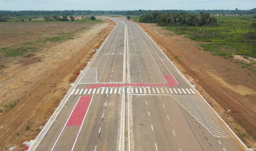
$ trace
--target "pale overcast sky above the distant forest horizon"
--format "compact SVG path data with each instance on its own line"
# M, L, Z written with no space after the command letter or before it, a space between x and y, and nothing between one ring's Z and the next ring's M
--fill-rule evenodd
M0 10L162 10L256 8L256 0L0 0Z

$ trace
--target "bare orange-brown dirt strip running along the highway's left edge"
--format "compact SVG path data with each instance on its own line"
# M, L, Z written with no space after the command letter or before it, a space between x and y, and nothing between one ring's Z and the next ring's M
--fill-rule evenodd
M39 127L46 124L58 107L77 73L85 68L115 26L114 22L106 21L83 30L75 39L49 46L3 69L0 108L9 108L14 100L16 105L0 113L1 150L11 146L24 150L22 143L35 139Z

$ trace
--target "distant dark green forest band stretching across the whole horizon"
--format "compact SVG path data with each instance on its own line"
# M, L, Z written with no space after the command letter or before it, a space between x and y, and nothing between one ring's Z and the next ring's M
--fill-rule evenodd
M256 8L251 10L239 10L236 8L235 10L159 10L159 13L181 13L185 14L199 14L200 12L205 12L209 14L222 14L222 15L231 15L231 14L256 14ZM74 14L82 14L87 13L91 14L94 11L90 10L65 10L65 11L0 11L0 17L46 17L46 16L63 16L63 15L74 15ZM109 14L117 14L117 15L130 15L130 16L139 16L143 14L150 14L155 12L155 10L133 10L133 11L99 11L101 14L105 14L108 12ZM95 13L96 14L96 13Z

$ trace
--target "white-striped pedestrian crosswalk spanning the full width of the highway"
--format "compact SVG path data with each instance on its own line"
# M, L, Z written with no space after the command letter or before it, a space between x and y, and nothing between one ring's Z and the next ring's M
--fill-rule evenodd
M74 89L71 95L90 94L169 94L169 95L195 95L191 88L168 88L168 87L107 87Z

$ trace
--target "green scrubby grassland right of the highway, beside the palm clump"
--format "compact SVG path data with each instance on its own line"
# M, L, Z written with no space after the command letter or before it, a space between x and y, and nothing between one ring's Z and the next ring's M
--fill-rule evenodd
M243 55L256 58L256 18L252 15L217 16L215 26L166 26L167 30L186 36L202 43L205 51L213 55L229 56Z

